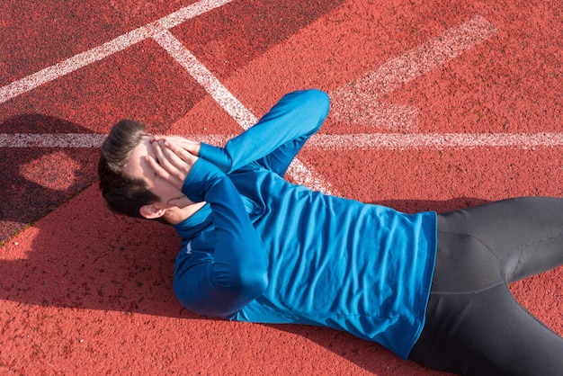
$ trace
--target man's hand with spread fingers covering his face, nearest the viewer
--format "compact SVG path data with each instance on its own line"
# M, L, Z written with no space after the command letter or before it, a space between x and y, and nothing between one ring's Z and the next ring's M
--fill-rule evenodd
M195 151L195 144L194 141L182 141L177 138L172 139L162 136L155 138L152 141L155 157L147 156L147 164L158 177L182 191L183 181L190 174L193 164L198 160L198 157L186 150L185 147ZM197 148L197 152L199 152L199 148Z

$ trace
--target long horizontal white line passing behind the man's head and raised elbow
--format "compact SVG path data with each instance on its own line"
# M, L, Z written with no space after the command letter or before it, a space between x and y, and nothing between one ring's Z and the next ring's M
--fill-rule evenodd
M0 133L0 148L98 148L104 134ZM223 145L236 135L180 135L210 145ZM543 133L373 133L316 134L306 148L337 149L444 149L444 148L559 148L563 132Z

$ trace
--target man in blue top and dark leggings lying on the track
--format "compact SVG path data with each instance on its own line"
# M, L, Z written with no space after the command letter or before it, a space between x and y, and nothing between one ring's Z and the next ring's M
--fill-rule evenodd
M560 374L563 339L507 284L563 264L563 200L405 214L290 184L327 112L320 91L287 94L224 148L120 121L103 197L174 226L174 291L194 312L333 327L446 372Z

